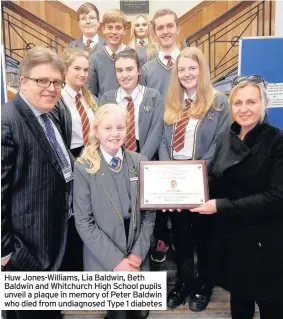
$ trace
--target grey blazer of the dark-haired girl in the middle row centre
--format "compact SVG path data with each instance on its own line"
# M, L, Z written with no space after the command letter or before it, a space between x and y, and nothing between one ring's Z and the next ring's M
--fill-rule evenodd
M99 105L117 104L117 90L102 95ZM163 105L160 93L151 88L145 88L139 107L139 144L140 154L152 160L158 152L163 130Z

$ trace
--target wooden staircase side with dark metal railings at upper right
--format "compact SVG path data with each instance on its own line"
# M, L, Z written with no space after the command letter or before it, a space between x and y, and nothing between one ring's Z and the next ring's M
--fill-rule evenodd
M223 80L226 80L227 84L231 79L229 75L237 72L239 40L242 37L273 35L274 12L274 1L240 1L226 13L188 36L185 43L203 51L214 84ZM227 85L223 88L224 92L228 89Z

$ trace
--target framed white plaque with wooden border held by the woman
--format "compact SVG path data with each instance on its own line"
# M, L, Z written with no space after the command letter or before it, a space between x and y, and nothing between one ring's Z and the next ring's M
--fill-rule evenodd
M188 209L208 199L205 161L140 162L140 209Z

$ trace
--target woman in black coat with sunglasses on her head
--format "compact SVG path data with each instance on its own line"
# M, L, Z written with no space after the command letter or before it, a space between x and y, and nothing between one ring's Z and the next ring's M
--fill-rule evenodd
M265 120L259 75L233 81L235 122L217 141L211 200L194 209L215 216L211 263L216 283L231 292L233 319L283 318L283 131Z

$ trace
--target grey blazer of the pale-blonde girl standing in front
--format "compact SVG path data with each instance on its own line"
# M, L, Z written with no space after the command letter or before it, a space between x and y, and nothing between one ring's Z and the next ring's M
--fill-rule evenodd
M125 151L129 178L138 176L139 162L146 157ZM89 164L75 163L74 215L84 248L84 269L87 271L112 271L128 254L142 257L144 262L150 247L155 212L139 210L138 180L130 182L131 220L128 241L124 228L122 208L111 172L105 161L95 174L86 169Z

